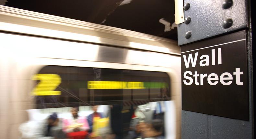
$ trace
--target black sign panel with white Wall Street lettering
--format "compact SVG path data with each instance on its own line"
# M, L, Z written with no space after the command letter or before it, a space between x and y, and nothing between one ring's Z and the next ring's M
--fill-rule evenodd
M245 31L181 47L182 110L249 120Z

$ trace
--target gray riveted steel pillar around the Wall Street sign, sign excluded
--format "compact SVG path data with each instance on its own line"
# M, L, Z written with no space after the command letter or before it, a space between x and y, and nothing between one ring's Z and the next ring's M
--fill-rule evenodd
M207 138L210 138L210 139L254 138L253 67L252 67L254 64L252 62L252 59L255 59L253 54L256 53L256 50L252 48L253 42L252 42L252 36L251 36L252 30L251 30L250 1L246 1L246 0L201 0L201 1L184 0L183 9L184 9L185 20L184 20L184 23L181 23L178 25L178 45L180 45L181 47L181 52L194 51L192 50L192 48L189 49L188 46L191 46L194 48L197 47L196 46L197 44L198 45L204 44L206 46L208 40L214 40L217 43L218 38L228 38L228 36L232 37L235 34L237 35L244 34L245 38L242 40L245 42L244 44L246 48L245 50L246 60L244 61L244 63L246 64L247 70L248 70L246 71L248 72L248 75L246 77L246 81L248 81L248 85L246 86L247 87L246 93L248 93L248 96L249 96L248 98L249 104L247 107L249 109L248 111L249 117L247 120L238 120L236 118L230 118L230 117L227 118L225 116L216 116L214 114L209 114L209 113L184 110L184 107L183 107L184 105L182 105L181 137L184 139L187 139L187 138L203 138L203 139L204 138L205 139ZM220 44L217 44L217 45L220 45ZM234 44L232 48L237 48L236 44ZM197 49L202 49L202 47L198 46ZM199 50L197 51L196 49L194 52L199 52L198 55L201 53L201 51ZM214 52L215 53L212 53L212 54L216 54L217 49ZM194 60L195 53L191 52L191 54L192 54L191 60ZM183 57L183 55L185 55L185 53L181 53L181 57ZM215 56L217 56L217 54ZM239 57L239 55L237 57ZM188 54L186 55L186 58L188 58ZM202 59L203 59L203 56L202 56ZM210 57L210 59L215 59L215 57L212 56ZM186 62L188 61L185 61L185 63ZM235 61L232 61L232 60L230 62L235 63ZM217 65L217 63L215 65ZM199 67L198 69L202 69L202 68L204 67ZM226 69L223 69L223 71L225 70ZM207 70L205 70L204 73L207 73ZM202 72L202 75L204 73ZM182 76L183 76L183 73L182 73ZM193 77L191 79L194 79L196 78L195 76L197 75L194 75L194 77L193 76L190 76L190 77ZM205 78L207 80L207 77ZM198 77L198 80L199 79L200 77ZM189 80L182 80L182 84L184 84L183 81L188 82ZM210 81L211 81L211 78L210 78ZM198 81L198 83L200 83L200 81ZM205 83L195 84L195 86L196 85L204 86ZM191 88L191 90L193 90L193 88ZM182 94L184 94L183 91L184 91L184 88L182 87ZM194 99L193 96L191 97L191 99ZM213 105L214 103L218 103L218 98L214 98L213 100L214 102L205 102L205 103L212 103ZM182 98L182 104L184 104L183 102L186 102L186 101L188 100ZM200 107L200 104L198 104L197 106ZM218 109L222 109L222 108L220 107Z

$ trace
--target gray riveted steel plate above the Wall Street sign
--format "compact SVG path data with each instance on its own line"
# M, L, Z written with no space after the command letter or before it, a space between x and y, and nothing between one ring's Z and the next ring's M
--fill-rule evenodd
M232 5L224 6L228 0L184 0L184 18L191 21L178 25L178 45L224 34L247 27L245 0L233 0ZM228 8L229 7L229 8ZM232 24L231 24L232 20ZM191 37L186 37L190 34Z

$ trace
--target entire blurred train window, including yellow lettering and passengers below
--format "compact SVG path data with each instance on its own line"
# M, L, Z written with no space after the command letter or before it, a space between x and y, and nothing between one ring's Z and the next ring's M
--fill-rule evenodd
M165 118L175 115L165 72L46 66L32 80L35 109L26 110L21 138L169 138L174 131Z

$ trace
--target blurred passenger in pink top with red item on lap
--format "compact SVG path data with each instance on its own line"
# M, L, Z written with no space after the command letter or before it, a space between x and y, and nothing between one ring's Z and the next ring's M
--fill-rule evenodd
M85 117L78 116L78 107L71 108L72 118L64 120L64 132L71 133L68 134L69 137L72 136L84 136L87 135L87 130L89 129L87 119ZM79 133L73 133L79 132Z

